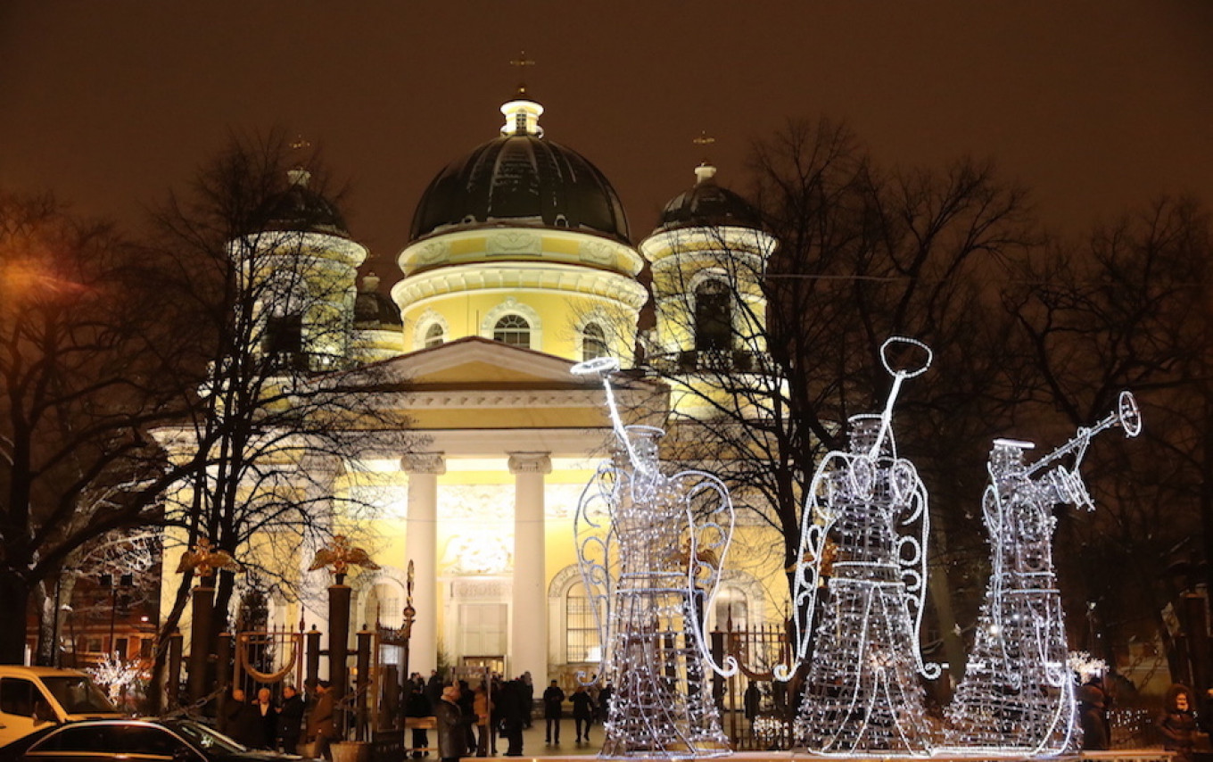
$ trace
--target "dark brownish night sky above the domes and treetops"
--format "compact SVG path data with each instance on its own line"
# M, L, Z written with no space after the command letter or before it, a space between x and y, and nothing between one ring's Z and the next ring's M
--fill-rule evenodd
M744 192L753 138L822 114L885 164L993 158L1071 232L1163 192L1213 204L1213 4L1169 0L0 0L0 187L137 231L230 130L283 127L349 181L386 288L425 186L520 78L634 240L701 130Z

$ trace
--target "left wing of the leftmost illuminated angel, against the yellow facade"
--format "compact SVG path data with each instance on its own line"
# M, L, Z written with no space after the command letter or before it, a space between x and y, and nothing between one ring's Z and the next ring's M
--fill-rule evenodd
M577 512L573 519L574 541L577 548L577 565L581 569L581 581L586 587L586 597L594 614L594 627L598 631L598 643L602 663L598 667L598 679L605 679L611 671L611 602L615 596L615 584L619 580L619 558L615 547L614 517L621 490L626 489L630 476L616 471L610 462L598 467L598 473L586 484L577 501ZM590 686L594 678L586 679L585 672L577 672L577 681Z

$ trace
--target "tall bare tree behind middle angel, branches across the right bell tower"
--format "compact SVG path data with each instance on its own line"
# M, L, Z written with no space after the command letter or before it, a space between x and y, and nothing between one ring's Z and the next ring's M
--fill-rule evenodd
M690 411L672 451L721 464L744 507L779 531L791 569L818 459L843 444L848 417L885 393L884 340L911 336L934 348L936 369L902 396L899 445L936 496L936 539L951 536L983 485L984 451L962 457L963 448L987 443L1014 398L996 352L1008 325L990 284L1037 240L1025 193L968 159L941 171L881 170L847 126L826 120L791 123L756 143L752 170L775 252L756 257L724 238L688 248L694 266L659 295L659 330L665 323L666 335L687 337L648 358ZM654 269L655 288L671 278ZM704 288L705 273L718 294ZM711 346L695 339L713 335ZM963 468L973 478L957 489ZM950 541L932 579L959 669L944 565L959 548Z

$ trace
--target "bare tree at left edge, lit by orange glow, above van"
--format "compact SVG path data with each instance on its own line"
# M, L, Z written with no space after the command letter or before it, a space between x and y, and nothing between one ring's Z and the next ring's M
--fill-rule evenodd
M0 194L5 610L45 597L98 534L160 521L160 490L180 476L148 436L180 408L161 385L172 368L154 343L143 254L49 197ZM24 627L0 630L0 661L21 663L24 639Z

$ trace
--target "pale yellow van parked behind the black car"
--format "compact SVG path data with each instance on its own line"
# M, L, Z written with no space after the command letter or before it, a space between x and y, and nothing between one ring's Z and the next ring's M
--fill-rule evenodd
M0 745L52 723L121 716L84 672L0 665Z

